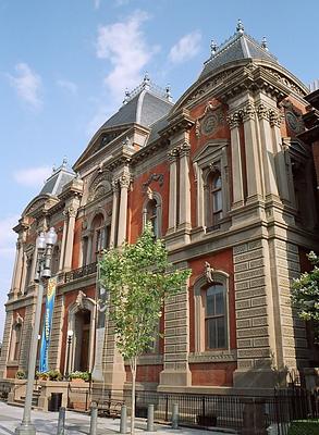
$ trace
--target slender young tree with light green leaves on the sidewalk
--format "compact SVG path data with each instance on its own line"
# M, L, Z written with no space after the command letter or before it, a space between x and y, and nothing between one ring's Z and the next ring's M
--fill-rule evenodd
M155 240L151 224L136 244L106 251L99 266L101 283L110 294L116 346L131 366L133 434L137 358L156 340L165 298L185 286L191 271L171 271L168 251L162 240Z

